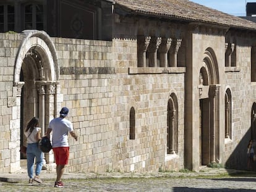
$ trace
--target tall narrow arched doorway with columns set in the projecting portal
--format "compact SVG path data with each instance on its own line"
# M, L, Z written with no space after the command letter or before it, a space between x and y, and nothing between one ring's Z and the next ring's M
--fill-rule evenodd
M219 75L215 53L205 51L199 73L199 149L200 165L220 161Z

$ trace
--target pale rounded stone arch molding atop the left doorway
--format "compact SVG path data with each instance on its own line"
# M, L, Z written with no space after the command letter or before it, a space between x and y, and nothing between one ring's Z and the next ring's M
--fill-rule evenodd
M38 52L38 54L42 56L47 56L48 58L48 62L43 62L45 64L48 64L48 66L43 66L46 69L49 69L48 81L58 81L58 56L56 54L54 43L49 35L45 31L38 30L25 30L23 31L23 35L25 35L25 38L20 44L20 48L17 52L17 57L15 59L14 86L19 85L23 59L25 59L29 51L32 51L34 49L36 52Z

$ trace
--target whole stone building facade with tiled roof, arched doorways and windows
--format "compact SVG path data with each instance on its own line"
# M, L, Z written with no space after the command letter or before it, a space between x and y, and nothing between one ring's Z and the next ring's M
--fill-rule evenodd
M69 8L31 2L48 9L47 21ZM68 172L246 169L256 23L186 0L72 3L91 17L0 34L1 173L20 169L28 120L39 117L44 132L63 106L79 136L69 140ZM45 160L54 162L52 152Z

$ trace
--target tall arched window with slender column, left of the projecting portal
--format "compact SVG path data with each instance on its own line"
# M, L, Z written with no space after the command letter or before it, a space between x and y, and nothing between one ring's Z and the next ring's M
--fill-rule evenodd
M167 107L167 154L176 154L178 152L178 110L177 98L171 94Z

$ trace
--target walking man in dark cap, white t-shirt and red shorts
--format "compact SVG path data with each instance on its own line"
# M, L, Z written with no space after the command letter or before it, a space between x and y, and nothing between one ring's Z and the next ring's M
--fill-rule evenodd
M52 145L57 173L56 181L54 183L55 187L64 187L61 178L64 173L64 167L69 160L68 134L70 133L70 135L75 138L75 141L77 141L77 135L74 132L72 123L65 119L68 113L69 109L63 107L59 112L59 117L51 120L46 131L46 136L48 136L48 138L50 138L50 133L53 131Z

